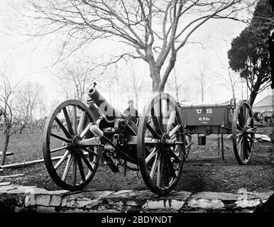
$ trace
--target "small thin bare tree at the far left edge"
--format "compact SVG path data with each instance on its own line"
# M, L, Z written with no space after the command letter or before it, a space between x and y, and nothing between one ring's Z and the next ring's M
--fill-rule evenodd
M9 139L16 133L18 128L13 128L13 103L16 98L18 83L11 84L10 79L4 72L0 72L0 112L4 118L4 147L2 151L1 165L5 164L6 150L8 150ZM2 106L2 107L1 107Z

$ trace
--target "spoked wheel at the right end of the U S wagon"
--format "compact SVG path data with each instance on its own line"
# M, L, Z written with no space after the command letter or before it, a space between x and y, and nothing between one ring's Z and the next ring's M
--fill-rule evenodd
M234 154L240 165L246 165L251 160L254 142L253 113L248 101L237 104L232 124L232 142Z

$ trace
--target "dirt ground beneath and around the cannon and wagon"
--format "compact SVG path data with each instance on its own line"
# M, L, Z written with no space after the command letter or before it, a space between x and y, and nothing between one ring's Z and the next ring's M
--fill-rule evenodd
M271 128L258 128L269 135ZM193 135L190 155L185 162L180 181L175 190L188 192L237 192L240 188L248 192L265 192L273 190L273 143L256 143L251 163L239 165L234 157L232 143L224 135L224 160L218 150L217 135L207 136L207 145L197 145L197 135ZM1 139L1 135L0 135ZM2 147L0 140L0 148ZM14 135L11 138L6 164L30 161L43 158L42 134L39 132ZM24 174L23 177L3 178L4 175ZM5 169L0 173L0 182L35 185L48 190L60 189L49 177L43 163L18 169ZM113 173L108 166L100 165L94 179L86 189L122 190L147 189L139 172L127 172L120 168L119 173Z

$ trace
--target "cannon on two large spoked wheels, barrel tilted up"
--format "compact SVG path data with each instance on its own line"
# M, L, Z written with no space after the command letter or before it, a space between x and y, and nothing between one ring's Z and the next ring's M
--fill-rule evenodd
M180 106L169 94L155 93L134 123L114 109L95 85L88 95L99 108L99 119L87 105L70 99L57 106L45 123L43 157L50 177L62 189L83 189L103 155L113 172L119 171L119 165L125 171L140 171L153 193L171 192L186 157Z

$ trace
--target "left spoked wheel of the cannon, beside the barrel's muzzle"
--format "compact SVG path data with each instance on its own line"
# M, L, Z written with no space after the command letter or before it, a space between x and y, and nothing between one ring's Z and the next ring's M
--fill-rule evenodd
M48 118L43 133L43 157L53 182L62 189L75 191L89 184L99 164L96 147L77 145L90 138L94 116L81 101L62 102ZM56 125L60 130L57 130Z

